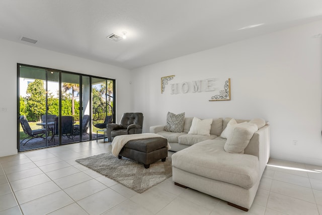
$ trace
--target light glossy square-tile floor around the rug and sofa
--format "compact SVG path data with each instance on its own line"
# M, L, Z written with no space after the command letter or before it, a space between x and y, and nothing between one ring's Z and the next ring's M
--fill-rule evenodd
M320 166L270 159L244 212L172 178L138 194L75 162L109 151L110 143L88 141L0 158L0 215L322 214Z

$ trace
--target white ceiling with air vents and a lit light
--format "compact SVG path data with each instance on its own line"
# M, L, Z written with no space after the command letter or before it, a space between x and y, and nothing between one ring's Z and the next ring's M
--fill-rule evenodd
M0 38L128 69L317 20L321 0L0 1Z

